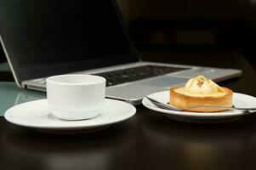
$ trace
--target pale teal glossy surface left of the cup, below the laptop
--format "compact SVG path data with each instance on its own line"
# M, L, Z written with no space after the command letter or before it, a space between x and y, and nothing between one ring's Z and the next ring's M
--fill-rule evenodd
M46 98L43 92L18 88L14 82L0 82L0 116L14 105Z

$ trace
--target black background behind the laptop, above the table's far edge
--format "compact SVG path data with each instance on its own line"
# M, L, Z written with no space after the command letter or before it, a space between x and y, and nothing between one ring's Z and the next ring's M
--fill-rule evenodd
M117 0L117 3L140 52L238 53L256 68L256 0ZM0 49L0 61L3 60Z

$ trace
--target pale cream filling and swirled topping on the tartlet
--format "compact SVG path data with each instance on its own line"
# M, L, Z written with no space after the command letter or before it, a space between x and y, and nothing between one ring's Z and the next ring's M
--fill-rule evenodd
M226 94L225 89L218 84L203 76L191 78L186 82L184 88L176 88L175 92L191 96L223 96Z

